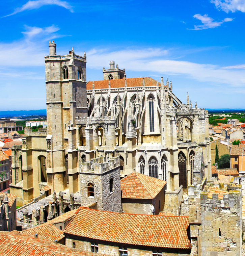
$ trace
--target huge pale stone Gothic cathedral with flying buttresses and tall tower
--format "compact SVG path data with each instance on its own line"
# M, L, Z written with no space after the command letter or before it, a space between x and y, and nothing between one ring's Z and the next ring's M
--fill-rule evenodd
M85 52L56 55L49 42L47 130L26 127L22 146L12 148L17 206L48 186L52 194L78 193L81 205L120 212L120 179L132 172L166 181L165 202L211 180L208 111L192 106L188 93L182 103L168 79L127 78L114 61L102 71L103 80L87 81Z

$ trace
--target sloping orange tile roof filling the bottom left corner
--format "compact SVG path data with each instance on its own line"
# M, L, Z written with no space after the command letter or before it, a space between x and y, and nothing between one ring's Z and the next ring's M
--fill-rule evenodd
M43 238L34 238L18 231L0 231L0 255L3 256L102 256L79 249L68 248Z

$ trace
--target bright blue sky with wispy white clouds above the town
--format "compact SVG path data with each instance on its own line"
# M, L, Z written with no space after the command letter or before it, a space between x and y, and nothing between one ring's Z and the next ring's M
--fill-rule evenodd
M87 54L87 80L114 60L169 78L202 108L245 108L245 0L1 1L0 110L46 108L44 56Z

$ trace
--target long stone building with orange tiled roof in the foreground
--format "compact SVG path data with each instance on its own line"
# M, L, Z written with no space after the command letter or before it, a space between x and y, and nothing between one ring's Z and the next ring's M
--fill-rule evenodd
M65 244L111 255L189 255L189 217L128 214L80 207ZM156 254L155 254L156 253ZM159 253L159 254L158 254ZM161 253L161 254L160 254Z

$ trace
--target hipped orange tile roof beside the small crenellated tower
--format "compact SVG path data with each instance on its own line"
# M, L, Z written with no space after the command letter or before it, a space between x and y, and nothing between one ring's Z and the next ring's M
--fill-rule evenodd
M153 199L165 184L164 180L133 172L121 180L122 198Z

